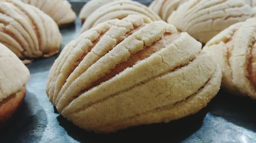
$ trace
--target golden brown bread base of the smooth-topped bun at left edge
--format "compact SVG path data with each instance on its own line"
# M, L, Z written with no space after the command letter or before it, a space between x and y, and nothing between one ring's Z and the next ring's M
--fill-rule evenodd
M0 102L0 128L4 126L5 123L13 116L14 112L19 108L23 103L23 100L26 95L26 87L23 87L22 90L9 96Z

